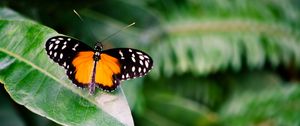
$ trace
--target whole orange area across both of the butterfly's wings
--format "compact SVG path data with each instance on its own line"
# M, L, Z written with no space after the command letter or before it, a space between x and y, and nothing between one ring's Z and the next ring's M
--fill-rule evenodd
M94 67L94 52L79 52L72 64L75 67L75 79L82 84L90 84ZM101 54L96 64L95 82L103 86L113 86L113 75L121 72L118 59L107 54Z

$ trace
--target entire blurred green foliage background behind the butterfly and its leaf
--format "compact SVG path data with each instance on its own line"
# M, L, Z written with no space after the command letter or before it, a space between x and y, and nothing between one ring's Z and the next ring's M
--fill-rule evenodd
M136 22L103 44L153 57L148 76L122 84L137 126L300 125L300 0L1 0L0 7L7 10L0 15L15 11L90 46ZM1 126L58 125L16 104L2 85L0 99Z

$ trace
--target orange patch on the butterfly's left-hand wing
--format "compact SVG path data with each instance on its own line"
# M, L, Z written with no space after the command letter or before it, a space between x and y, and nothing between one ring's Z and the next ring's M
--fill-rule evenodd
M93 55L92 51L79 52L72 61L76 72L75 79L79 83L90 84L94 67Z

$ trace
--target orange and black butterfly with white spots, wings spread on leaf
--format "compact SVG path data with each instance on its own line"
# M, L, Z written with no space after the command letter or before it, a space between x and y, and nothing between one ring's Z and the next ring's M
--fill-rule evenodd
M103 50L101 42L94 48L68 36L54 36L45 44L54 62L66 69L68 78L78 87L114 91L120 81L146 75L153 67L152 58L132 48Z

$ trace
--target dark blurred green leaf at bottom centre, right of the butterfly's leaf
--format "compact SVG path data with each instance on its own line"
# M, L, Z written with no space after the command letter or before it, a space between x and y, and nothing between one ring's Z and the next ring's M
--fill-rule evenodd
M173 94L157 92L148 104L143 118L152 120L158 116L160 118L156 117L156 120L164 122L164 126L213 126L218 120L217 115L206 106Z

